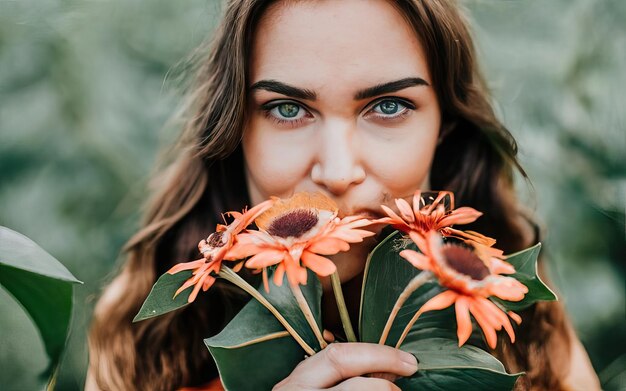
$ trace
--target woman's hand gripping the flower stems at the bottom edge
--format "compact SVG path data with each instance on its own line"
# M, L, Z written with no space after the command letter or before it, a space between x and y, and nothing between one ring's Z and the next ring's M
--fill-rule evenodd
M290 390L399 390L389 380L363 375L410 376L417 371L415 356L389 346L369 343L333 343L307 358L274 386Z

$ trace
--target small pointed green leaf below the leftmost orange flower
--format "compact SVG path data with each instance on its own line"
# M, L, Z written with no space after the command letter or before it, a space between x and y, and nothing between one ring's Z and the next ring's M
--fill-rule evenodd
M191 277L192 273L191 270L183 270L176 274L165 273L159 277L141 305L139 312L135 315L133 322L154 318L188 305L187 299L193 290L192 287L180 292L176 297L174 294Z

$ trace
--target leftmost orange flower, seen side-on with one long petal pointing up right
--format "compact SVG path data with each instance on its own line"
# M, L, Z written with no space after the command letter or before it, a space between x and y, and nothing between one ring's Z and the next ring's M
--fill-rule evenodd
M204 256L203 258L179 263L167 271L169 274L176 274L183 270L193 270L192 276L178 288L174 297L192 285L195 286L187 299L189 303L196 299L200 288L206 292L215 282L215 277L211 273L218 274L220 272L223 260L240 259L237 258L236 254L233 256L230 253L232 247L237 243L237 234L243 231L257 216L264 213L273 204L273 200L268 200L243 213L228 212L227 214L234 217L235 220L229 225L218 224L214 233L198 243L198 250ZM236 266L237 270L238 268L241 268L241 264Z

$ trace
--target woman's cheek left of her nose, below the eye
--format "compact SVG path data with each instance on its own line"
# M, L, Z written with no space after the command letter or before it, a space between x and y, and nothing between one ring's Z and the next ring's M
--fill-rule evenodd
M290 196L309 177L311 143L288 131L264 128L259 122L250 121L242 142L252 201ZM255 195L260 199L255 200Z

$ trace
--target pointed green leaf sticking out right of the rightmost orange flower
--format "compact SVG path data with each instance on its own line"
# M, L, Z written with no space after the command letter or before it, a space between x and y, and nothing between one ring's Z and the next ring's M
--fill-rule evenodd
M517 279L528 287L528 293L521 301L506 301L494 298L493 300L502 304L507 310L519 311L530 307L538 301L554 301L557 300L556 295L548 286L541 281L537 274L537 259L541 243L537 243L533 247L526 250L511 254L506 261L515 267L515 274L510 276Z

